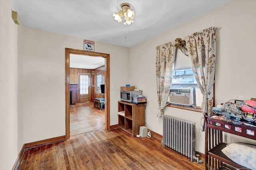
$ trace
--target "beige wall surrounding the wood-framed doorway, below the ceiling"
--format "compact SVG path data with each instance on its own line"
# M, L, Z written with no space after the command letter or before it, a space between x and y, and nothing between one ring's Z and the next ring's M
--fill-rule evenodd
M83 49L82 38L33 28L24 35L24 143L65 135L65 48ZM95 42L110 54L110 125L117 124L120 86L129 83L129 48ZM117 71L121 70L121 71ZM54 99L51 102L49 99ZM58 106L58 107L57 107Z

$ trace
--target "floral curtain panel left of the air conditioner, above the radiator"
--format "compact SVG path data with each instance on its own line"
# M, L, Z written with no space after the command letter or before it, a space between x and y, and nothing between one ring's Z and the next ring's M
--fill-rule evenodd
M172 73L176 53L175 42L168 42L156 47L156 79L158 95L157 117L162 117L168 105L168 96L172 84Z

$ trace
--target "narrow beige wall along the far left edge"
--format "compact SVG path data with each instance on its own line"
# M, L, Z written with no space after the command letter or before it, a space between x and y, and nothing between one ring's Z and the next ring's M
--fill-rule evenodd
M12 1L0 0L0 169L10 170L23 145L23 26L11 19Z

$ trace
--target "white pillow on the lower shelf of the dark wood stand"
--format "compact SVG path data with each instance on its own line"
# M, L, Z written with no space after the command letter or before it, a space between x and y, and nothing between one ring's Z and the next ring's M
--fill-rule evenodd
M256 145L248 143L231 143L221 150L228 158L246 168L256 168Z

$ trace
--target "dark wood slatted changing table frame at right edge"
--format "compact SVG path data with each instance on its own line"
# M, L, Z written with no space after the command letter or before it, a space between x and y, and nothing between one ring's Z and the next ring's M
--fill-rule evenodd
M220 126L216 126L216 123ZM230 129L225 128L225 125L230 125ZM242 132L235 131L235 127L242 128ZM254 135L246 133L246 129L254 130ZM236 164L228 158L221 150L226 147L227 143L223 142L222 132L243 136L256 140L256 127L246 125L234 125L232 123L213 119L205 115L205 169L217 170L226 169L223 163L233 166L238 169L248 169L244 166Z

